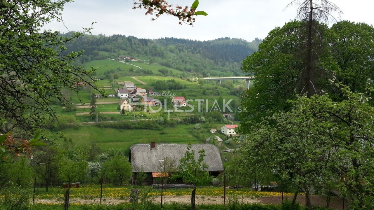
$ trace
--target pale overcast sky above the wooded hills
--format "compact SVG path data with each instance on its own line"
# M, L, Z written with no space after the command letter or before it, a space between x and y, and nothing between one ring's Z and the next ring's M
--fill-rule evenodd
M179 6L194 0L168 0ZM374 25L373 0L330 0L343 11L341 20ZM44 29L82 31L96 22L93 35L132 35L138 38L177 37L193 40L213 40L221 37L252 41L265 38L269 31L281 27L297 16L296 7L285 7L291 0L200 0L197 10L208 16L197 16L194 26L179 25L178 18L144 15L144 9L132 9L133 0L75 0L65 4L61 22L51 22ZM335 15L337 16L337 15ZM332 23L330 23L331 25Z

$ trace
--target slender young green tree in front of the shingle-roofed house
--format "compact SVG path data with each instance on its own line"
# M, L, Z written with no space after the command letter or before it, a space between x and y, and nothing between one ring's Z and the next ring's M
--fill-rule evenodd
M205 150L202 149L198 152L197 161L195 156L195 151L191 150L191 143L188 143L186 153L179 161L178 174L173 176L174 179L181 178L183 182L194 185L191 196L193 209L195 209L196 186L207 184L211 182L213 178L209 176L208 171L205 171L205 169L208 168L208 164L204 162Z

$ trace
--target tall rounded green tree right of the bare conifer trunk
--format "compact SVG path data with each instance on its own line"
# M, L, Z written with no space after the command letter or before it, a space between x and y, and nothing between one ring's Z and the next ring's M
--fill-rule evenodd
M353 92L366 92L368 79L374 77L373 26L341 21L332 25L331 31L334 33L331 55L340 67L337 80Z

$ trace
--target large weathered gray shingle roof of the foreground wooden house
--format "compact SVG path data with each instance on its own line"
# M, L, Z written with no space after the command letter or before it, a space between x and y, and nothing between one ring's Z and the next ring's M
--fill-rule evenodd
M212 144L192 144L191 150L195 151L196 161L199 158L198 152L205 149L204 162L208 164L206 171L223 171L220 151ZM159 161L168 157L172 160L179 160L187 151L187 144L160 143L155 148L150 144L136 144L130 148L130 160L133 167L132 172L139 172L141 167L144 172L159 172Z

